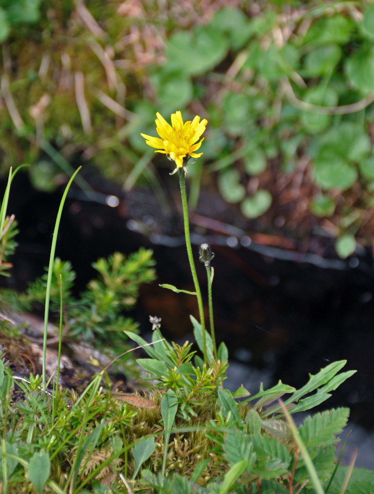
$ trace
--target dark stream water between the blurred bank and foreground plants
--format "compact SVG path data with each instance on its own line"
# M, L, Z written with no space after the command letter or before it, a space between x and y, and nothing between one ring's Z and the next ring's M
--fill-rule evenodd
M57 255L72 261L77 272L76 291L94 276L91 263L98 257L115 250L129 253L140 246L151 247L158 279L142 288L134 318L147 333L149 315L157 315L162 318L166 337L191 340L189 314L197 317L194 297L158 286L169 283L193 289L178 212L161 215L150 191L139 189L124 194L118 186L104 182L100 189L103 195L96 195L94 200L85 200L80 191L73 189L62 217ZM106 194L117 195L120 205L111 208L103 204ZM61 191L37 192L26 174L16 176L8 211L16 214L20 234L10 286L25 288L47 265L60 198ZM254 385L253 375L256 386L259 379L266 385L282 379L300 387L308 373L346 359L343 371L356 369L357 373L333 392L322 408L348 406L351 418L372 430L371 255L363 251L344 261L334 255L322 258L251 242L250 233L241 236L240 229L231 233L238 235L217 235L192 225L191 238L196 244L196 260L197 245L205 241L216 254L212 265L217 338L226 343L233 369L235 364L239 376L247 376L249 382L243 385ZM198 263L197 269L205 292L205 268Z

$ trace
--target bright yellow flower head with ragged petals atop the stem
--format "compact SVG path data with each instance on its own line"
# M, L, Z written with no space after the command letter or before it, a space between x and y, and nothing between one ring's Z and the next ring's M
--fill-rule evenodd
M199 140L201 135L205 131L206 119L200 122L200 117L196 116L192 121L188 120L183 123L182 113L175 112L171 116L171 123L169 125L166 120L156 113L156 130L160 138L152 137L147 134L141 134L149 146L157 148L155 153L163 153L170 156L175 161L177 168L184 166L183 159L186 156L192 158L199 158L203 153L195 153L201 146L204 137Z

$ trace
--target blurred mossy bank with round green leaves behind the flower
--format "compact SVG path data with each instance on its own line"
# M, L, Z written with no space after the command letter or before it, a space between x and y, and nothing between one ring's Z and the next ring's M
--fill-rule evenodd
M295 236L295 216L322 228L328 217L329 235L370 244L374 4L187 3L41 0L37 26L3 49L14 67L1 80L3 166L22 155L43 170L51 142L126 188L154 183L140 132L153 132L156 111L180 109L208 119L203 171L245 217L272 228L281 210ZM201 170L190 170L197 190Z

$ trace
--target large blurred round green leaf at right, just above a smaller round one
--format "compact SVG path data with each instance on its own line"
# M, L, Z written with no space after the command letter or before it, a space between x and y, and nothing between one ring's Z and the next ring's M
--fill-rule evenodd
M317 160L314 168L315 182L325 190L348 189L357 179L355 166L339 158Z

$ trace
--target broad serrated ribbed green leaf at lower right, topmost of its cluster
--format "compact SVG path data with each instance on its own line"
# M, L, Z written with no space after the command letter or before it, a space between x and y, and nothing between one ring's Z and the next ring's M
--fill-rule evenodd
M348 421L349 409L338 408L312 417L305 418L299 427L299 434L305 446L311 448L325 447L337 443L337 434L340 434Z

